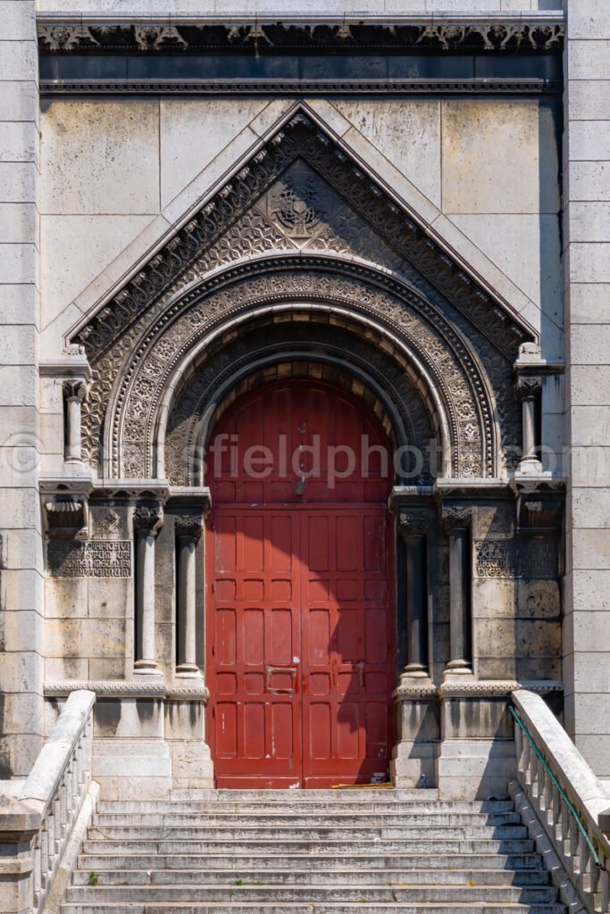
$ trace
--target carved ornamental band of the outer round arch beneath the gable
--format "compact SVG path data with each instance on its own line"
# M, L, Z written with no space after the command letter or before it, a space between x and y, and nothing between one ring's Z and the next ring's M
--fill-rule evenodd
M283 269L270 264L262 275L255 274L251 279L241 278L245 266L237 268L234 272L238 281L230 288L212 292L208 297L203 297L200 290L187 293L164 315L164 334L161 335L157 327L151 329L135 350L116 395L112 445L117 462L113 472L139 478L152 473L150 455L156 408L177 365L212 327L254 307L260 308L262 304L305 299L326 306L337 303L355 314L375 315L395 329L420 363L427 367L434 388L444 400L451 426L453 472L463 476L485 475L485 451L492 453L489 404L480 378L476 384L478 370L467 345L442 316L414 292L401 289L397 283L394 283L392 294L379 288L379 277L376 277L378 288L363 282L368 271L360 270L358 278L337 276L329 270L326 261L307 258L294 261L292 270L287 266L285 262ZM154 362L153 370L147 370L149 360ZM481 414L487 416L487 432L481 429ZM137 423L136 428L144 432L142 437L132 440L130 435L129 442L123 444L123 420L130 430L131 423ZM123 460L119 457L122 444Z

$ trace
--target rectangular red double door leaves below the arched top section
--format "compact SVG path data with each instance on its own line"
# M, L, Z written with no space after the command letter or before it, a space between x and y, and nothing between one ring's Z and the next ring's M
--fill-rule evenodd
M385 515L376 505L215 510L208 672L219 787L327 787L387 771Z

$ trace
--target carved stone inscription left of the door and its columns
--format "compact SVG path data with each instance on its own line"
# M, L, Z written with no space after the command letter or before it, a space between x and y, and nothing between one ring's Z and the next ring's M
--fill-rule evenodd
M132 544L129 540L48 544L48 573L52 578L129 578Z

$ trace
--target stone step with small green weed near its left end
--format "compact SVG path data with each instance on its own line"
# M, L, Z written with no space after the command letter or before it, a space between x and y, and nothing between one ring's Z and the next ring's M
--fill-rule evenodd
M85 858L88 859L88 858ZM309 886L348 883L350 886L548 886L549 874L544 869L522 869L506 873L498 869L390 869L367 866L366 869L262 869L244 867L227 869L97 869L87 866L74 873L75 886L87 886L91 872L96 873L100 886L166 886L166 885L243 885ZM432 877L432 879L431 879Z

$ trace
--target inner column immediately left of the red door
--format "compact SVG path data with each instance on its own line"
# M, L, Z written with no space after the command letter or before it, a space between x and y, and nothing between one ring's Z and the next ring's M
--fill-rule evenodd
M200 676L197 665L197 544L203 515L176 518L177 541L177 675Z

